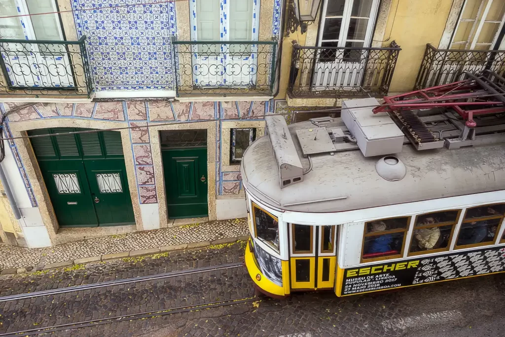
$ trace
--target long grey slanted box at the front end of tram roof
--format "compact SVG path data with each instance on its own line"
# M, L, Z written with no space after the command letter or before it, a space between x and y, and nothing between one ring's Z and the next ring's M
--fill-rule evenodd
M304 167L301 165L284 116L268 115L265 117L265 121L274 158L277 162L281 188L304 181ZM326 135L328 136L328 133Z

